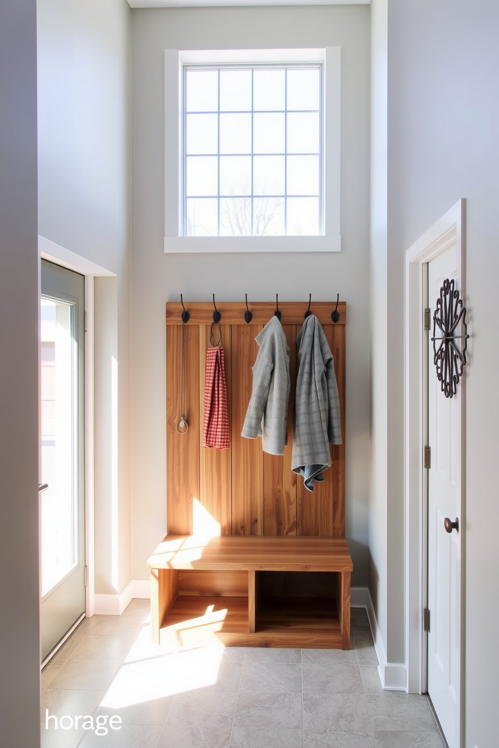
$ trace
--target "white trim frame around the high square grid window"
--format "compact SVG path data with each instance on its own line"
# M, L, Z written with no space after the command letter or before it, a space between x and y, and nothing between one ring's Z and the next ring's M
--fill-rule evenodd
M323 206L322 236L179 236L181 225L182 69L196 63L322 62ZM165 252L339 252L341 49L165 49Z

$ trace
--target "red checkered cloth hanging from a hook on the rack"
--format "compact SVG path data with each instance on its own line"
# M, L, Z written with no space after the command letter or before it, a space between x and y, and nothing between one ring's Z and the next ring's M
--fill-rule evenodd
M203 447L215 447L215 450L230 447L224 349L221 346L212 346L206 351Z

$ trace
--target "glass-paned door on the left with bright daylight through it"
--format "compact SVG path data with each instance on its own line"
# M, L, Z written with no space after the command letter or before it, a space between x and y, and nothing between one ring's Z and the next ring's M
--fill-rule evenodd
M42 660L85 613L84 280L42 260Z

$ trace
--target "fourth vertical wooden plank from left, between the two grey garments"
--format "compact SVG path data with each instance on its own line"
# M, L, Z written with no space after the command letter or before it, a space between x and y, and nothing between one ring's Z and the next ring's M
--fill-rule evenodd
M263 454L264 535L296 535L296 473L291 470L293 405L296 389L296 325L283 325L290 346L290 407L284 456Z

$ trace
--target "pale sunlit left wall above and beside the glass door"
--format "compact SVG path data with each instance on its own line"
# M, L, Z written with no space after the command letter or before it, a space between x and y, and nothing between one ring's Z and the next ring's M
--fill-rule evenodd
M131 11L126 0L38 0L37 12L38 231L117 276L96 283L95 319L96 592L113 593L130 579Z

